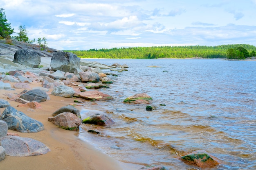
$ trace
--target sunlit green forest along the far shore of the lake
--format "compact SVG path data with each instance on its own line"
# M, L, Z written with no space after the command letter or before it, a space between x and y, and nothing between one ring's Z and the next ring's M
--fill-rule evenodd
M158 47L129 47L91 50L65 50L80 58L105 59L159 59L159 58L227 58L230 48L245 48L248 52L256 51L256 47L248 44L232 44L221 46L158 46Z

